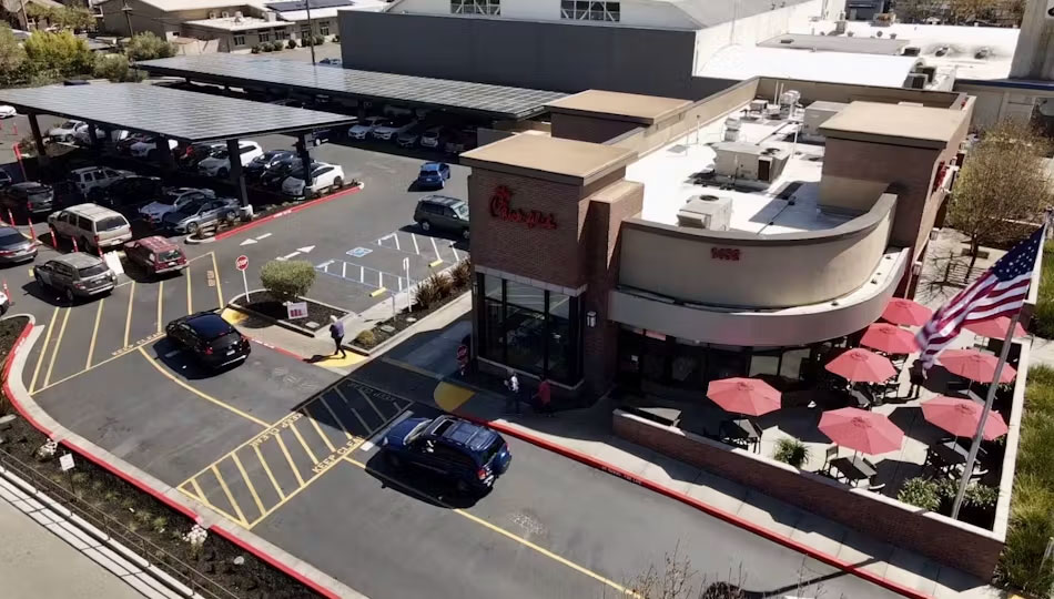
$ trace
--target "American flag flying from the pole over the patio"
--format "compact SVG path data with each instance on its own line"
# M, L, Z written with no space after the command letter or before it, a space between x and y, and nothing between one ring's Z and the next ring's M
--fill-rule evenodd
M1010 316L1021 309L1028 296L1043 232L1044 227L1040 227L933 314L915 336L924 368L933 365L963 325Z

